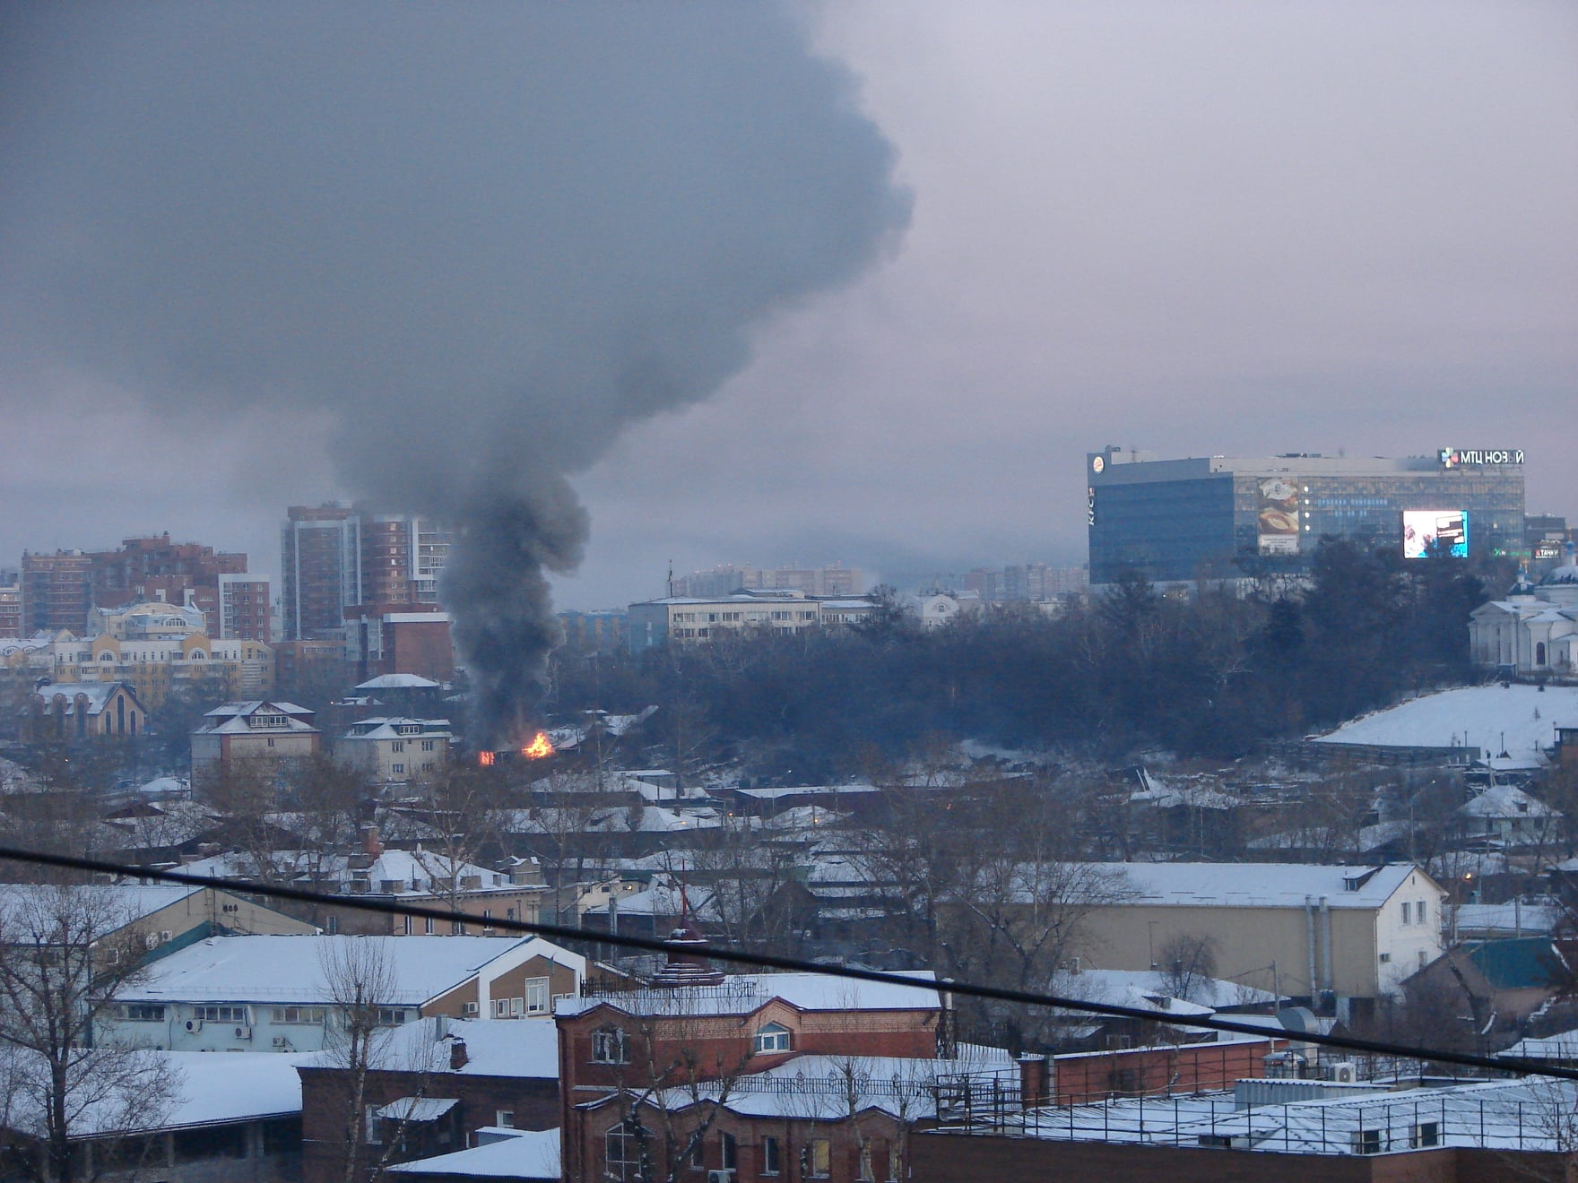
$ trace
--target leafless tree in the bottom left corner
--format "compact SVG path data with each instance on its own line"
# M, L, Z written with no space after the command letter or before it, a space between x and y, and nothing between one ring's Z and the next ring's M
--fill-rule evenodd
M6 1158L35 1183L96 1178L175 1106L180 1073L164 1057L95 1039L145 951L117 888L0 890L0 1126ZM73 1153L88 1133L103 1151L92 1167Z

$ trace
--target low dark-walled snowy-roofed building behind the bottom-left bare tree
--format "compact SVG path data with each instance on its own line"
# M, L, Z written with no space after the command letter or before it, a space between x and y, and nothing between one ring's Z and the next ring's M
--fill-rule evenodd
M297 1076L301 1057L148 1055L158 1062L155 1074L172 1087L172 1106L167 1112L133 1109L136 1123L128 1129L122 1128L123 1114L117 1106L93 1104L87 1090L79 1093L74 1101L80 1109L73 1114L69 1137L80 1164L79 1178L128 1183L150 1178L294 1183L301 1178L301 1080ZM44 1123L32 1109L33 1095L14 1090L3 1101L0 1142L8 1158L41 1158ZM13 1178L9 1172L5 1177Z

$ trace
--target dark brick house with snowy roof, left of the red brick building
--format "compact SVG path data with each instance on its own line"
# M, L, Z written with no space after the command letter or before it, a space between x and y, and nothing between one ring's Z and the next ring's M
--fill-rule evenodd
M300 1071L303 1183L346 1178L346 1131L358 1101L355 1170L361 1178L398 1162L418 1170L418 1159L467 1153L488 1129L554 1129L557 1161L559 1033L552 1024L423 1019L377 1041L366 1073L347 1066L335 1049ZM459 1174L450 1167L436 1174Z

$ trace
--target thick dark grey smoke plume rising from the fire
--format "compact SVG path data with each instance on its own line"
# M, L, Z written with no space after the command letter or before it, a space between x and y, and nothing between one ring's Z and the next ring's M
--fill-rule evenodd
M462 530L497 738L587 539L567 476L907 218L849 79L756 3L9 5L0 170L0 363L137 391L172 459L331 412L355 494Z

